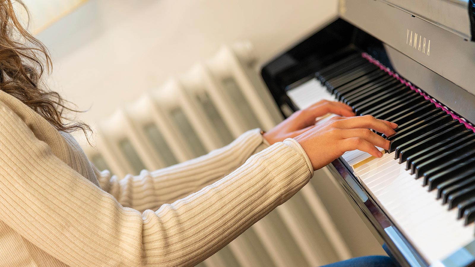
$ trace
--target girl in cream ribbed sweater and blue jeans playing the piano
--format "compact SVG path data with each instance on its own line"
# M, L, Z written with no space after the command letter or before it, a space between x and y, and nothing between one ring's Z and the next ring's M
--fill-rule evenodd
M45 46L0 5L0 266L194 266L346 151L381 156L397 126L322 101L267 133L250 130L197 159L119 180L69 132L63 99L41 82ZM314 127L315 118L335 113ZM369 257L339 266L391 266ZM343 265L342 265L343 264ZM376 266L376 265L375 265Z

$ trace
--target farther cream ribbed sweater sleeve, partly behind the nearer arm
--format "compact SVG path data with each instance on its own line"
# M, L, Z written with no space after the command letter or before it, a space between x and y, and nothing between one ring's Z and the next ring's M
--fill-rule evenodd
M260 130L254 129L223 148L160 170L142 170L140 175L127 175L123 179L111 176L107 170L98 172L96 169L95 172L102 189L124 207L157 210L164 203L179 200L218 181L266 147L268 144Z

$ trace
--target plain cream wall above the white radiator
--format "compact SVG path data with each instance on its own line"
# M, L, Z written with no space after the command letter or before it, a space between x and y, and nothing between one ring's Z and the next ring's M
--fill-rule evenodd
M94 126L114 109L213 55L250 40L261 62L336 14L336 0L90 0L38 36L52 89Z

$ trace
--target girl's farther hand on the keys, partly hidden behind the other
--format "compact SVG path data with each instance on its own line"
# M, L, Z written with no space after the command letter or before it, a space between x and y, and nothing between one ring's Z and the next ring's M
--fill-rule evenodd
M286 138L293 138L313 128L315 118L327 113L334 113L341 116L355 115L349 105L322 100L306 109L296 111L272 130L265 133L264 138L266 138L269 144L284 141Z

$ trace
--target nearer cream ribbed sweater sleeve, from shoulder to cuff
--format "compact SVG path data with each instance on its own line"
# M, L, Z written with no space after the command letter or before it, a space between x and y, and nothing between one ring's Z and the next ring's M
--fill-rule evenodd
M294 195L311 168L293 139L158 210L124 208L0 112L0 219L73 267L194 266Z

